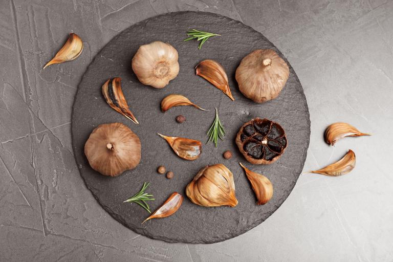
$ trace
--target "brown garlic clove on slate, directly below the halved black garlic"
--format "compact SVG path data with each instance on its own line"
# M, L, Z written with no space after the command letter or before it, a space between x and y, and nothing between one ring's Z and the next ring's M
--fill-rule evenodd
M252 189L255 192L255 196L258 200L258 205L264 205L269 202L269 200L273 197L273 185L270 180L265 177L263 174L258 174L247 167L245 167L242 163L239 163L244 171L246 171L246 175L248 180L251 183Z

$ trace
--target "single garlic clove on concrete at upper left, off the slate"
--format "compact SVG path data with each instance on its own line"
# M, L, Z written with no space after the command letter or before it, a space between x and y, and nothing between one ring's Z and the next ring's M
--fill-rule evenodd
M71 33L67 42L64 43L64 46L57 52L55 57L50 60L43 69L48 67L48 65L55 63L62 63L74 60L77 58L83 50L83 42L82 39L77 34Z

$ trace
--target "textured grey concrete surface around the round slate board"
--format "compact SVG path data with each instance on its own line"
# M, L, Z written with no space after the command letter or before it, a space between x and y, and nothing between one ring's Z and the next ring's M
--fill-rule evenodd
M393 261L393 2L18 1L0 5L0 261ZM211 245L168 244L130 231L86 189L71 150L77 85L97 52L130 25L200 10L241 20L288 58L307 97L304 170L355 151L346 176L307 174L263 224ZM73 62L43 65L69 32ZM136 36L138 37L138 36ZM372 137L329 147L326 125Z

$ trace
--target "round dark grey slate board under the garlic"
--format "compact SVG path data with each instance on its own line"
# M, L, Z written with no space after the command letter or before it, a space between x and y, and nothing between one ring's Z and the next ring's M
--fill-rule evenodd
M201 50L196 40L183 42L190 29L220 33L210 38ZM157 90L141 84L132 71L131 60L138 47L160 40L170 43L179 52L180 72L164 89ZM234 79L235 70L244 56L254 49L274 49L283 55L263 35L239 21L205 12L179 12L149 18L114 37L95 57L79 84L72 115L72 135L75 158L87 187L102 207L117 221L139 234L167 242L214 243L242 234L266 220L288 197L302 170L310 138L310 118L307 102L299 79L292 67L290 77L279 97L263 104L253 103L239 91ZM227 71L235 101L231 101L202 77L196 76L195 65L203 59L220 62ZM284 58L285 59L285 58ZM106 104L101 86L108 78L121 77L123 93L139 125L127 120ZM168 94L186 95L191 101L210 111L192 106L173 107L160 111L160 101ZM214 107L226 130L224 141L217 148L207 142L206 132L214 119ZM187 121L178 124L177 115ZM238 151L234 142L244 122L254 117L268 118L285 128L288 147L285 154L271 165L251 165ZM83 154L85 141L92 130L102 123L121 122L129 126L142 143L142 160L133 170L116 178L101 176L94 171ZM203 142L202 154L195 161L177 157L169 145L157 135L187 137ZM231 150L233 157L225 160L222 154ZM255 204L244 171L238 162L251 170L265 174L274 187L271 201L263 206ZM232 172L238 205L231 207L202 207L192 204L185 194L186 185L200 168L222 163ZM174 172L168 180L156 172L159 165ZM150 182L146 190L156 201L150 208L158 208L173 192L184 196L181 208L164 219L141 222L148 213L137 204L123 203L137 193L143 182Z

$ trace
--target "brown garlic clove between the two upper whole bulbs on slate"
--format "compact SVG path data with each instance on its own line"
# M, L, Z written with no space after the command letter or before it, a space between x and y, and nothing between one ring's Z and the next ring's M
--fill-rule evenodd
M220 63L210 59L203 60L195 67L195 73L223 91L232 101L235 100L229 89L227 73Z

